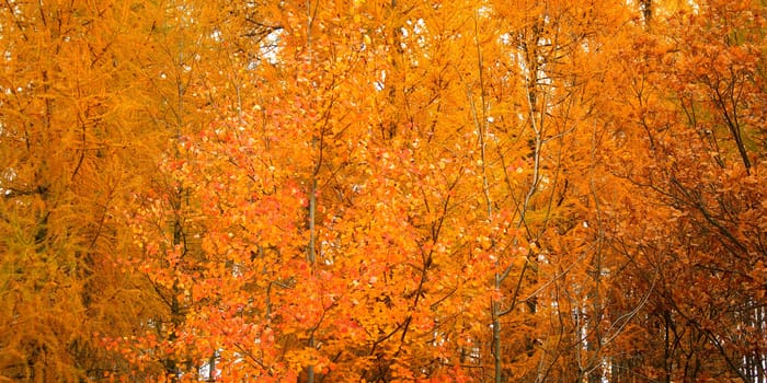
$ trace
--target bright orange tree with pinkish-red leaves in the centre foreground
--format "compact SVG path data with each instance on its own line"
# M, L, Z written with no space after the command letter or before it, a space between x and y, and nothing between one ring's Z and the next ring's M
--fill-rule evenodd
M434 303L424 301L433 257L449 254L438 239L447 202L437 199L435 212L419 218L425 222L408 222L408 211L419 205L397 183L421 188L431 204L443 186L421 186L413 172L421 167L439 182L450 160L413 164L410 144L379 136L376 104L367 95L381 85L365 70L375 65L368 63L374 49L384 48L375 48L367 33L341 27L334 12L347 5L284 8L278 22L289 27L281 33L278 58L270 62L265 55L256 69L256 81L268 85L256 91L259 104L180 147L183 161L170 174L198 201L203 257L179 254L181 248L152 251L147 255L165 260L146 271L190 307L183 323L173 324L174 336L162 341L167 352L185 353L187 375L206 356L229 378L375 380L424 373L419 365L445 369L422 352L422 343L439 325ZM346 48L333 45L340 38L348 39ZM431 233L414 232L414 224ZM158 248L151 239L146 246ZM168 274L168 262L184 266ZM448 270L440 278L460 275ZM433 288L450 297L458 282ZM455 295L466 301L477 294ZM438 303L439 295L430 299ZM152 339L137 345L139 359L157 347ZM430 353L444 353L433 348Z

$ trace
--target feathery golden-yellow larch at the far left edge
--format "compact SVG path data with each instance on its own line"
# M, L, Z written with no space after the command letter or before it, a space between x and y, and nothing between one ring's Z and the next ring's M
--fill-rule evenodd
M113 267L116 217L136 167L136 126L118 56L118 2L0 7L2 326L0 374L79 381L127 364L94 334L130 334L147 305ZM123 370L124 371L124 370Z

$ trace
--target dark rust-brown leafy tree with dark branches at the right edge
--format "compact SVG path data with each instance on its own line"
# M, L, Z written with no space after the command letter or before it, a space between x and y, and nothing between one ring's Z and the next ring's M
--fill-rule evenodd
M623 290L646 304L613 379L760 382L764 4L653 7L623 54L636 70L615 114L610 173L646 198L617 205L643 219L611 247L630 260Z

